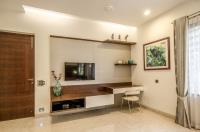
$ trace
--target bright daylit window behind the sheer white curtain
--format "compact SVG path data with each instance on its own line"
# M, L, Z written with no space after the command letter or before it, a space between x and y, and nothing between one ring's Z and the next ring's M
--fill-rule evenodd
M189 92L200 95L200 16L191 18L188 28Z

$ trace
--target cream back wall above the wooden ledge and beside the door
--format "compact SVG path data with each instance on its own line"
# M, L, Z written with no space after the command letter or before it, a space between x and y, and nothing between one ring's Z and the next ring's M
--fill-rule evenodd
M129 34L132 41L136 41L137 38L135 27L78 18L63 18L43 13L25 13L21 10L20 3L9 2L12 5L9 9L0 9L0 30L35 34L35 82L40 79L46 81L43 87L35 86L36 115L40 114L39 107L45 108L44 113L50 111L50 34L104 40L112 33L120 33Z

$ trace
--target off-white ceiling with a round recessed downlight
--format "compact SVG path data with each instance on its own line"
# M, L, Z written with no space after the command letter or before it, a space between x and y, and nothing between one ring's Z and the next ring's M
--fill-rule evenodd
M22 4L81 18L138 26L188 0L1 0L0 8L21 9ZM113 6L113 10L105 7ZM146 9L151 10L144 16Z

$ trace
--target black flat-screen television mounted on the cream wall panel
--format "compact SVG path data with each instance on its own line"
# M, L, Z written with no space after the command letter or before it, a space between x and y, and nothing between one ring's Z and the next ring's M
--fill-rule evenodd
M65 62L65 81L95 80L95 63Z

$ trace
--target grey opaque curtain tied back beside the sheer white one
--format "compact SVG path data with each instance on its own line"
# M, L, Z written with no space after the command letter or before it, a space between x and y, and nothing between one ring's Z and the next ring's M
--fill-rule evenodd
M187 85L187 17L174 21L174 52L176 71L177 108L175 122L191 128Z

